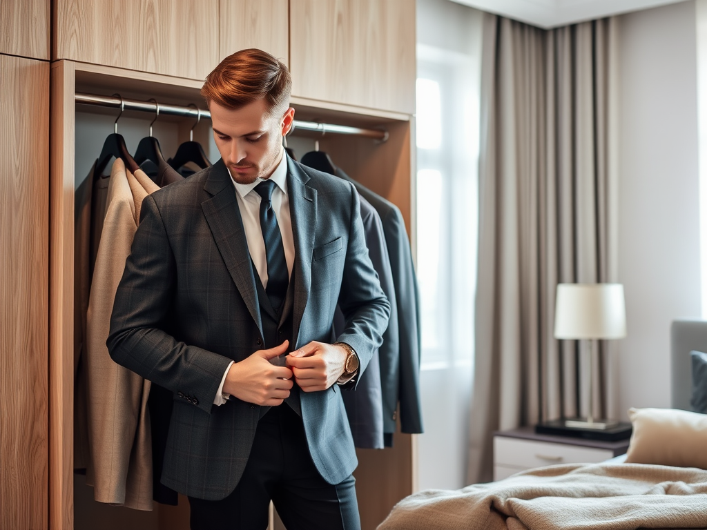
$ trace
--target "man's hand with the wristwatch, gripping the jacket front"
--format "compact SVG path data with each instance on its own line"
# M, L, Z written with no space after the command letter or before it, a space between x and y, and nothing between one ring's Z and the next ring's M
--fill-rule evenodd
M312 341L287 356L295 381L305 392L326 390L344 373L349 352L343 346Z

